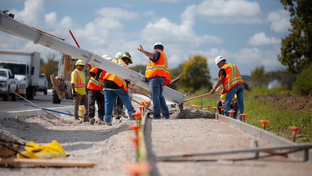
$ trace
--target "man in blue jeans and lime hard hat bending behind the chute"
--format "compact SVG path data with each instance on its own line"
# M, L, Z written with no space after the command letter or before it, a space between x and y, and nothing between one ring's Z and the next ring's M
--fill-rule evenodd
M129 63L132 63L131 55L128 52L125 52L121 60L113 59L111 60L114 63L117 63L125 68L129 68ZM98 72L96 73L96 77L98 77ZM108 126L111 126L111 118L113 115L113 107L114 107L114 100L116 98L116 95L118 95L124 104L124 106L128 110L129 119L135 120L134 115L132 113L135 112L131 99L128 94L128 82L127 80L124 80L123 78L120 78L112 73L107 72L104 77L104 94L105 94L105 117L104 121L105 124ZM99 122L98 122L99 123Z

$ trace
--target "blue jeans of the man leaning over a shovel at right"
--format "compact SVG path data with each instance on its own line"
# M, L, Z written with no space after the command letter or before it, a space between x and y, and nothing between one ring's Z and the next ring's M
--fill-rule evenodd
M234 97L235 93L237 96L237 104L238 104L238 120L242 120L242 116L239 114L244 113L244 90L245 90L245 86L243 83L240 84L236 84L235 86L233 86L231 88L231 90L229 90L227 92L227 96L224 99L225 102L225 108L224 108L224 115L229 117L230 113L228 113L227 111L230 110L230 104L232 101L232 98Z

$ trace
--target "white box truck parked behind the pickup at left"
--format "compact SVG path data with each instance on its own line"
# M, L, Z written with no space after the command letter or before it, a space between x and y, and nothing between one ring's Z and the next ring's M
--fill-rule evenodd
M11 69L19 81L18 94L34 99L39 82L40 53L0 50L0 68Z

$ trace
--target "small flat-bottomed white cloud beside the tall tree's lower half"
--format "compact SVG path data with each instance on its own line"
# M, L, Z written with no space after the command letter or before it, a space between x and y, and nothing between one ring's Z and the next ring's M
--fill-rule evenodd
M275 37L267 37L264 32L256 33L253 37L249 38L249 45L268 45L268 44L280 44L281 39Z

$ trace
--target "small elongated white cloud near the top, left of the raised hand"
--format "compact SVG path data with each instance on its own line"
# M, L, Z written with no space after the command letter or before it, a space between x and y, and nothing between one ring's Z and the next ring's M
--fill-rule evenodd
M101 8L97 11L97 14L102 17L114 18L114 19L137 19L139 13L129 12L121 8Z

